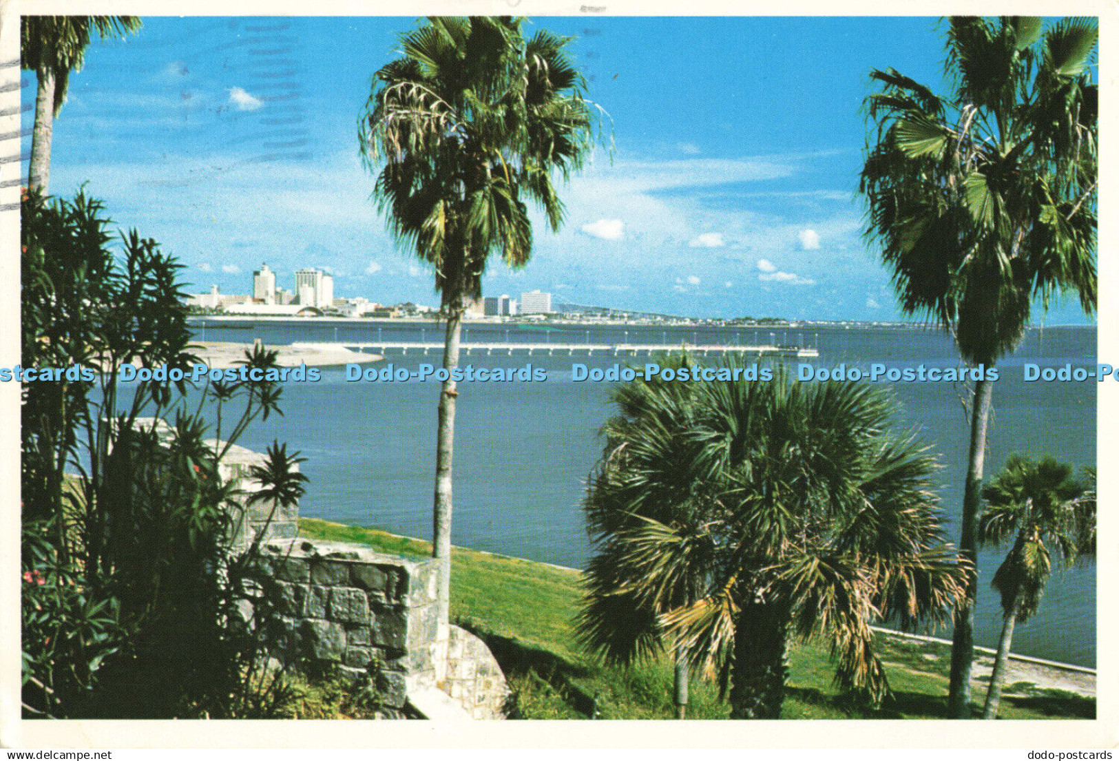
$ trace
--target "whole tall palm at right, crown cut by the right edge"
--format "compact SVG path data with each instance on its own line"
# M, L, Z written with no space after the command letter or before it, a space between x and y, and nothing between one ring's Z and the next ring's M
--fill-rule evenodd
M1014 349L1032 307L1073 292L1096 309L1094 19L948 21L955 88L888 68L866 100L874 134L859 190L866 236L881 245L906 314L946 328L969 365ZM975 562L993 382L975 382L960 552ZM956 612L949 702L971 715L977 579Z

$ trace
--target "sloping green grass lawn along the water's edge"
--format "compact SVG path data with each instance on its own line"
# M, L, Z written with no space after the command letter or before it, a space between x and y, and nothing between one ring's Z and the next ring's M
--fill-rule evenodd
M431 556L426 542L374 528L300 518L309 538L352 542L382 552ZM581 574L517 557L454 547L451 617L480 636L501 664L525 718L674 718L673 668L667 658L630 668L605 667L583 654L572 619L579 610ZM825 645L796 642L782 718L941 718L948 694L948 651L938 642L880 637L894 696L880 707L855 705L831 684ZM982 698L985 685L972 695ZM1003 698L1005 718L1092 718L1096 701L1060 690L1017 685ZM694 677L689 718L726 718L716 687Z

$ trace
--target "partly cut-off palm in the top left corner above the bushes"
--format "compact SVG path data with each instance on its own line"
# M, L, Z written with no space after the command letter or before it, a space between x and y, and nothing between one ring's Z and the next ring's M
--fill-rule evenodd
M134 16L22 17L20 58L23 69L35 72L38 81L28 187L47 192L54 120L66 100L69 74L82 68L93 35L102 39L120 38L139 28L140 19Z

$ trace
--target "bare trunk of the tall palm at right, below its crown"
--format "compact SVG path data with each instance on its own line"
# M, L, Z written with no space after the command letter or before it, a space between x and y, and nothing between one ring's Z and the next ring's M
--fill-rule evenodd
M986 367L994 363L986 364ZM951 679L948 688L948 715L971 718L971 663L975 648L975 602L979 569L976 566L976 518L979 514L982 462L987 450L987 419L990 416L993 382L984 377L976 382L971 406L971 445L968 453L968 476L963 486L963 515L960 519L960 556L971 564L967 594L956 609L952 631Z

